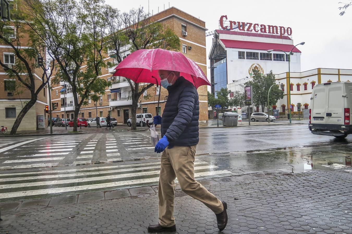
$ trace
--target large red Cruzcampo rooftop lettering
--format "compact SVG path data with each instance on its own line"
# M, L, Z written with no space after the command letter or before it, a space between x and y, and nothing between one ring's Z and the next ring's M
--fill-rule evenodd
M224 26L224 19L227 20L227 15L221 15L220 17L220 27L224 30L232 30L237 27L239 31L245 31L245 32L271 33L271 34L277 34L280 36L292 35L292 28L290 27L285 28L283 26L253 24L249 22L245 23L245 22L231 21L231 20L230 20L230 26Z

